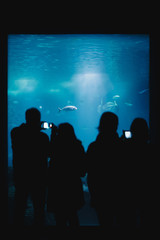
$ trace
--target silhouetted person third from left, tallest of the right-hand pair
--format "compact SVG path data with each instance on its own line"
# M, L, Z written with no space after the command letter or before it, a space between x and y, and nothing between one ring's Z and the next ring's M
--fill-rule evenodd
M99 134L87 150L87 182L91 206L97 212L100 226L109 228L114 225L114 217L117 216L120 205L121 140L117 127L117 115L104 112L100 118Z

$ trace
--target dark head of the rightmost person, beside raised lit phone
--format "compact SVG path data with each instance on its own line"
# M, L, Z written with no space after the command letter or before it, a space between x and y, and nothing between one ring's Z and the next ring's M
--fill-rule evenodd
M135 118L131 124L132 139L136 142L148 142L149 129L145 119Z

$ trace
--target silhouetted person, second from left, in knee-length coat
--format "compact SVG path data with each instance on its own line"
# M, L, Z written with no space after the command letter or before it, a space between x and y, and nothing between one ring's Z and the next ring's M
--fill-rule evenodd
M52 129L47 209L56 226L78 227L77 211L84 204L81 177L85 174L85 152L69 123Z

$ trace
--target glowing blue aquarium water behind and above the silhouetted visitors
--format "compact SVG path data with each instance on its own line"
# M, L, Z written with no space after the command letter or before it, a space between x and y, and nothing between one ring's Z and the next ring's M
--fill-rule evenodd
M77 110L58 111L67 105ZM10 131L25 122L30 107L41 111L42 120L71 123L85 149L104 111L118 115L119 135L135 117L149 123L149 36L9 35L9 166Z

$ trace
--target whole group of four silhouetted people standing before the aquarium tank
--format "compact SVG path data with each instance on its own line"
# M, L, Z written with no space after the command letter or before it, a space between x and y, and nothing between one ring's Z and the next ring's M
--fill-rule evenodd
M85 152L69 123L53 125L51 138L41 130L41 114L30 108L26 123L11 131L15 183L14 223L24 224L29 194L35 225L43 225L45 211L54 213L56 226L78 227L78 210L85 204L81 177L87 177L90 204L102 227L147 224L149 129L136 118L132 137L117 133L118 116L104 112L98 136ZM49 161L48 161L49 159Z

